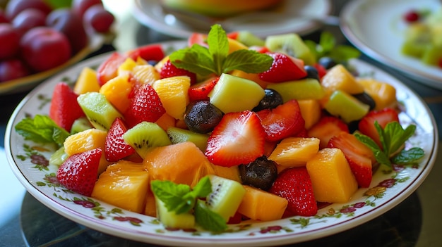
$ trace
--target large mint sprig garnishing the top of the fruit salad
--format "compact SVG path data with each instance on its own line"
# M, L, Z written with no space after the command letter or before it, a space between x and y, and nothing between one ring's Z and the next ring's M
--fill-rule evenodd
M221 25L213 25L208 33L208 47L200 44L174 51L170 62L177 68L198 75L221 75L232 70L259 73L268 70L273 58L257 51L240 49L229 53L229 41Z

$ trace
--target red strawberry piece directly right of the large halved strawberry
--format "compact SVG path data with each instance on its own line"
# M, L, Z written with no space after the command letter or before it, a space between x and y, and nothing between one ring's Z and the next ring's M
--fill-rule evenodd
M299 103L294 99L273 109L260 110L257 114L261 118L267 141L292 137L304 129L305 121Z

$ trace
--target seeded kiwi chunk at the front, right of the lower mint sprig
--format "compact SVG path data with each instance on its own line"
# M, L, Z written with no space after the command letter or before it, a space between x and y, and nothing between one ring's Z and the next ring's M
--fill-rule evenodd
M239 182L208 175L212 184L212 192L206 198L206 205L213 212L221 215L226 222L232 217L246 194L246 189Z

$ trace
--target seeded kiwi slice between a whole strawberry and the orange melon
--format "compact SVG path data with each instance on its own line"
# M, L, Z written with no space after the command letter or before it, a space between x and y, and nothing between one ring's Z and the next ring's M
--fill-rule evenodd
M167 132L154 122L140 122L128 129L123 139L135 148L141 158L145 158L151 148L172 144Z

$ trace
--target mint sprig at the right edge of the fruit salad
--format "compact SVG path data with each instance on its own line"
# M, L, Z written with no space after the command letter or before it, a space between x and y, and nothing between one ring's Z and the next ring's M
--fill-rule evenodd
M355 136L373 151L378 163L388 167L391 167L392 162L398 165L413 165L424 156L424 150L419 147L400 151L405 141L410 139L416 131L416 125L409 125L404 129L399 122L389 122L385 128L382 128L376 121L374 126L379 134L382 147L364 134L355 134ZM397 152L399 153L391 157L393 153Z

